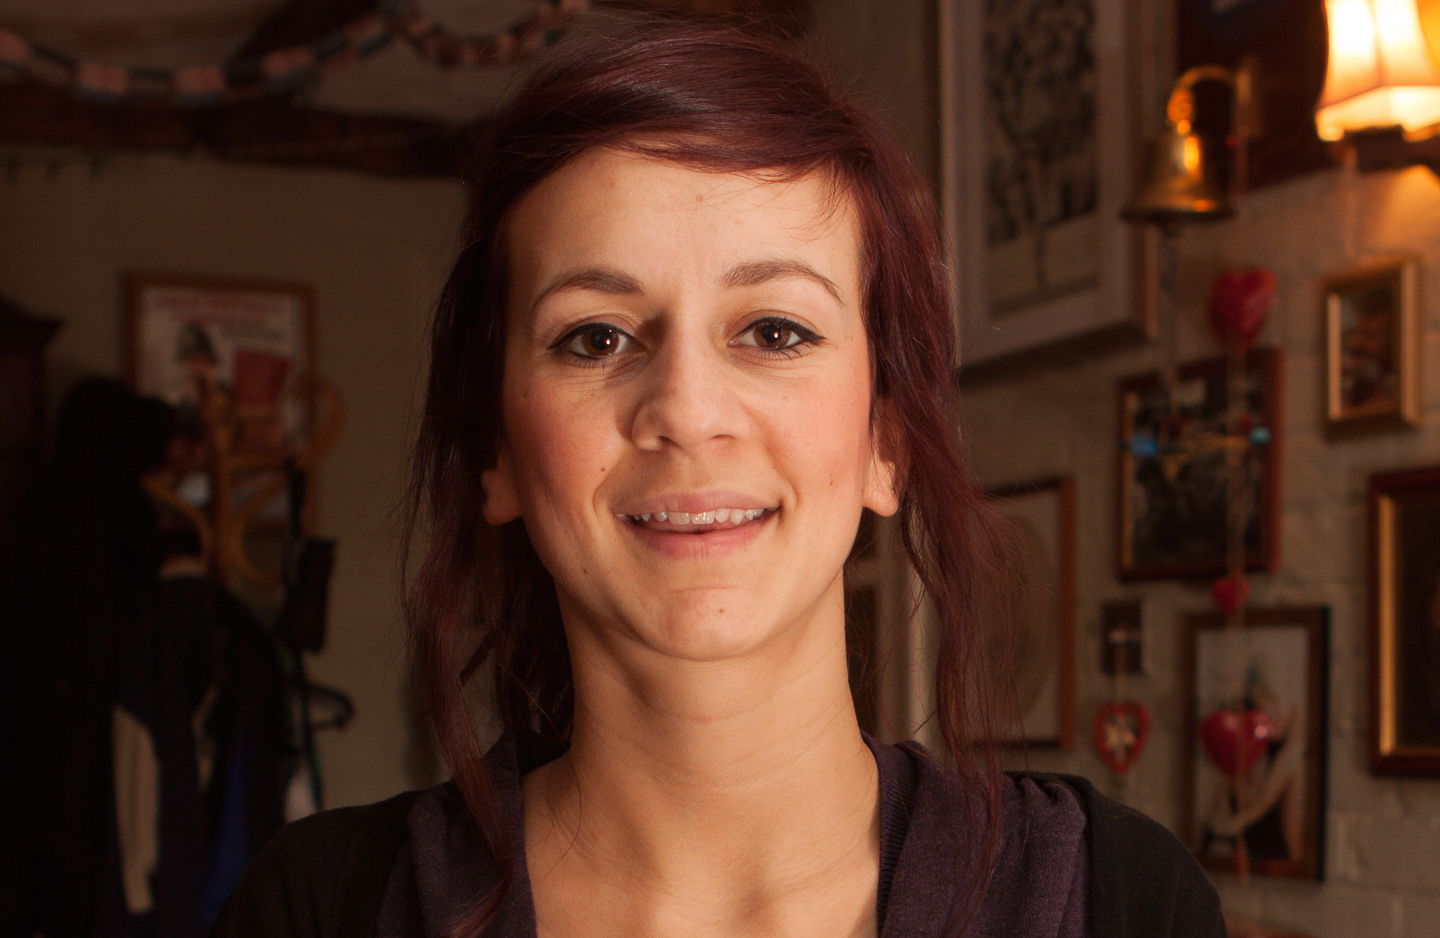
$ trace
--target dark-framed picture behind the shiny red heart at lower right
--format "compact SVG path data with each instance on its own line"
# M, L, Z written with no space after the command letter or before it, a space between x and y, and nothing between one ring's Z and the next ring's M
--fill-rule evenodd
M1185 837L1212 869L1322 879L1329 609L1187 617Z

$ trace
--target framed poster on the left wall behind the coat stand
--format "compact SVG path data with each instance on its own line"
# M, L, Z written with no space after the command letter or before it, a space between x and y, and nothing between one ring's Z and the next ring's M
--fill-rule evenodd
M128 274L131 383L173 403L181 421L223 390L235 406L235 454L291 452L311 416L294 386L314 372L312 310L298 284Z

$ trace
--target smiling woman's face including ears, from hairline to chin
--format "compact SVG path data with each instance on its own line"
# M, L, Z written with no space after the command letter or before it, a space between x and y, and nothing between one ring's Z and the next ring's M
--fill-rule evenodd
M507 241L485 516L524 519L567 631L690 660L838 633L861 506L896 509L848 199L593 150Z

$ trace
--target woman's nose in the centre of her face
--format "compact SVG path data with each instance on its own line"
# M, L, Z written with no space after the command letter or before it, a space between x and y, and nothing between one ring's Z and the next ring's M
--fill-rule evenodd
M667 343L635 382L631 435L641 450L693 450L744 432L737 375L721 350L704 341Z

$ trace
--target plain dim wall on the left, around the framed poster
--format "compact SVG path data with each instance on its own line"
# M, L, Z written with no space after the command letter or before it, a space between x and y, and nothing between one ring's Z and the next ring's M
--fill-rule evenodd
M357 705L347 729L320 736L328 804L426 784L433 769L403 694L397 507L459 186L168 156L30 153L12 167L0 177L0 292L65 321L49 354L52 406L81 375L124 373L122 271L314 287L317 367L348 422L320 475L318 530L338 553L311 677Z

